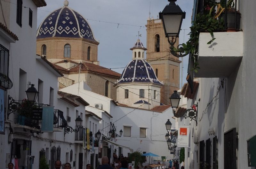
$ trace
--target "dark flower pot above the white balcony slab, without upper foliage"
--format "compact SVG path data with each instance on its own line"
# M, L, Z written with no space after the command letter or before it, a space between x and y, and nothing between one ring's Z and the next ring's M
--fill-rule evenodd
M236 16L236 17L235 17ZM223 18L225 21L225 12L220 14L220 18ZM226 29L229 30L238 30L240 29L240 19L241 19L241 14L237 11L227 11L227 27Z

